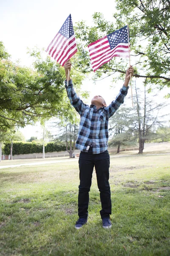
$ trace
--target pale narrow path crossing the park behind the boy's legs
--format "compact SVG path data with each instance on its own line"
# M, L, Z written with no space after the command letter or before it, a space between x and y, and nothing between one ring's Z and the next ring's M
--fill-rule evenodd
M161 153L161 154L139 154L139 155L122 155L122 156L111 156L110 158L116 158L116 157L144 157L144 156L158 156L158 155L167 155L170 153ZM21 164L12 164L12 165L6 165L6 166L0 166L0 169L5 168L12 168L12 167L20 167L20 166L37 166L42 164L51 164L51 163L62 163L62 162L68 162L68 161L78 161L79 158L75 159L67 159L67 160L48 160L48 161L41 161L41 162L35 162L35 163L21 163Z

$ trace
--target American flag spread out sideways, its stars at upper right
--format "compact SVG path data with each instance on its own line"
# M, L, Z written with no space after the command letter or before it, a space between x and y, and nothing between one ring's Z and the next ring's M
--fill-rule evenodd
M129 57L127 26L88 45L94 72L113 57Z

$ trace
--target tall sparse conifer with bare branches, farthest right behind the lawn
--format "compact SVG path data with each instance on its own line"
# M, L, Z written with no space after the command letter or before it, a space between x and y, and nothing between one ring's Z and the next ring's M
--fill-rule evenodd
M165 107L166 104L164 102L157 103L154 100L155 96L148 98L146 87L144 87L144 92L141 93L141 91L136 87L135 83L135 90L135 108L131 112L131 124L129 127L129 132L131 137L133 136L134 139L138 139L139 154L142 154L145 141L152 140L156 136L154 128L166 122L164 121L166 115L159 116L159 111Z

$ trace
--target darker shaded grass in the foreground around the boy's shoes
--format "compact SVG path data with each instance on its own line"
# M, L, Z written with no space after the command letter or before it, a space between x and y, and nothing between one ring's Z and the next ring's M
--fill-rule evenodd
M169 191L164 198L139 188L121 187L112 193L111 230L102 228L96 189L90 192L88 224L74 228L77 192L42 191L4 201L2 255L168 255Z

